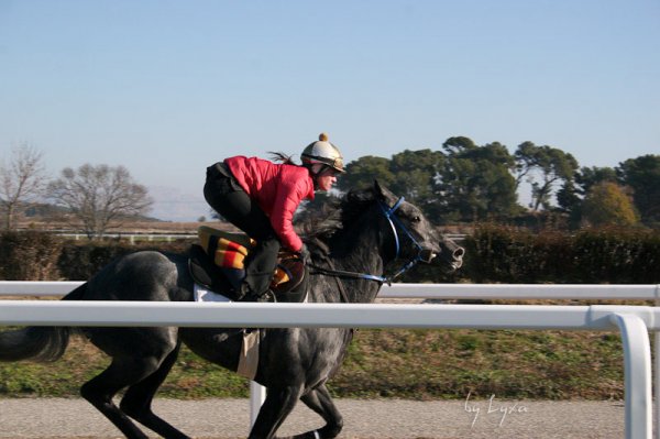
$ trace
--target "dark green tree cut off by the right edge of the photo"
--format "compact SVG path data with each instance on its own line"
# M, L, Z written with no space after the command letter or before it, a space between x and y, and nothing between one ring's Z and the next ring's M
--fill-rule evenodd
M632 188L635 207L645 223L660 222L660 155L647 154L619 163L616 173Z

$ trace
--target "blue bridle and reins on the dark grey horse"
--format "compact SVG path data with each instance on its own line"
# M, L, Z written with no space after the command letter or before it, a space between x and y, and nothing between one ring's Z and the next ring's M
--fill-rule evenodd
M317 265L309 265L309 267L311 270L314 270L311 272L311 274L322 274L322 275L336 276L336 277L342 277L342 278L375 281L375 282L378 282L381 284L391 285L392 281L394 281L395 278L399 277L400 275L403 275L404 273L406 273L408 270L413 268L419 262L426 262L426 263L431 262L431 260L433 257L436 257L436 253L433 253L431 250L424 249L421 246L421 244L415 239L415 237L413 235L413 233L410 233L410 231L408 230L408 228L406 227L406 224L404 224L402 222L402 220L396 216L396 211L403 205L404 201L405 201L405 198L400 197L394 204L394 206L388 207L385 202L378 200L378 207L381 208L381 211L385 216L385 219L387 220L387 222L389 222L389 226L392 228L392 232L393 232L393 235L394 235L394 245L395 245L394 260L397 260L399 257L399 254L400 254L400 239L399 239L399 233L403 233L404 237L408 238L410 240L410 242L413 243L413 245L417 249L417 254L415 256L413 256L410 260L408 260L393 275L391 275L391 276L378 276L378 275L369 274L369 273L346 272L346 271L342 271L342 270L334 270L334 267L332 266L332 263L330 261L328 261L328 262L331 264L331 268L332 270L320 267L320 266L317 266ZM345 296L345 294L344 294L344 296ZM348 298L344 297L344 300L348 301Z

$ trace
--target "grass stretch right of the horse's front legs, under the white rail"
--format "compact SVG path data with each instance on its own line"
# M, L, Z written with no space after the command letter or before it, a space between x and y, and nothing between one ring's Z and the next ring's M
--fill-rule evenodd
M620 398L618 336L595 332L361 331L332 383L341 396Z

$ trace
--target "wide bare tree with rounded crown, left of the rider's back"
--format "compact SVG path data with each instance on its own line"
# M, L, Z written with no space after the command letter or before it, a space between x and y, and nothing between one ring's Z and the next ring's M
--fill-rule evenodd
M146 213L153 204L146 188L134 183L123 166L66 167L48 185L48 194L56 205L70 210L89 239L121 226L127 217Z

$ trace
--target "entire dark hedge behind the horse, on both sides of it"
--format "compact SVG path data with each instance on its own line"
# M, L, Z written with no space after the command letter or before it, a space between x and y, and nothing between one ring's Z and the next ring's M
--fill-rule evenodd
M0 279L84 281L116 257L138 250L186 252L190 241L133 245L122 241L62 241L44 232L0 233ZM462 244L458 272L440 259L403 282L432 283L660 283L660 232L645 229L585 229L575 233L530 232L482 224ZM392 270L395 267L393 266Z

